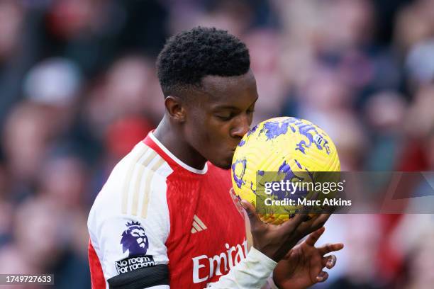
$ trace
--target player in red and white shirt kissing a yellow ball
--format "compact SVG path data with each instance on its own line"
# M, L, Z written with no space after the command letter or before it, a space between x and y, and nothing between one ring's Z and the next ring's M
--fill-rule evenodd
M336 261L325 254L343 248L315 247L329 215L266 225L230 193L228 169L258 98L245 44L216 28L184 31L167 40L157 74L165 115L115 166L89 213L92 288L325 281Z

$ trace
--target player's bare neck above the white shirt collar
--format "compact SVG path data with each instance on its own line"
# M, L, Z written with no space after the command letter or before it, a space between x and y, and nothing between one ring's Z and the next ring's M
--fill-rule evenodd
M181 162L194 169L204 169L206 159L191 147L184 135L165 116L153 132L154 136Z

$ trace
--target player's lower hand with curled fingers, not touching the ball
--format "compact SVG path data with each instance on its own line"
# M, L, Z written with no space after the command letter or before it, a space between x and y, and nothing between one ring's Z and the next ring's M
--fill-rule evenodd
M311 233L304 242L294 246L284 256L284 259L274 269L274 283L282 289L307 288L313 284L324 282L328 273L323 271L324 267L333 268L336 263L336 256L324 256L333 251L343 249L342 243L325 244L315 247L325 228L317 229Z

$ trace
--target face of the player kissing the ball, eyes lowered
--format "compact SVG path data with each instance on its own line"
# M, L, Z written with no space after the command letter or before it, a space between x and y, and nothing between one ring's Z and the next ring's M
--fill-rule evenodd
M238 77L208 76L186 107L185 136L199 154L230 169L235 148L252 124L257 101L251 71Z

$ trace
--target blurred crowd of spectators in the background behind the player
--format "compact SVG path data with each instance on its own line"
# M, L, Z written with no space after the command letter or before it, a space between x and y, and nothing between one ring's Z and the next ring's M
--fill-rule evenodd
M254 124L311 120L343 171L434 171L434 0L1 0L0 273L90 288L89 208L164 113L165 39L199 25L249 47ZM433 288L434 215L333 215L328 241L318 287Z

